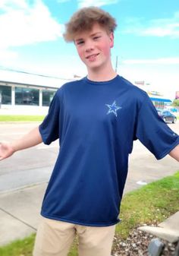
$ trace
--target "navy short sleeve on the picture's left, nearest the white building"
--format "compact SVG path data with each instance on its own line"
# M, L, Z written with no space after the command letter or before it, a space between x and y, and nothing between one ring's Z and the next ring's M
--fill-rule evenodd
M60 128L60 106L61 106L61 93L58 90L52 99L49 106L49 112L42 124L39 125L39 132L42 136L44 144L51 144L59 138Z

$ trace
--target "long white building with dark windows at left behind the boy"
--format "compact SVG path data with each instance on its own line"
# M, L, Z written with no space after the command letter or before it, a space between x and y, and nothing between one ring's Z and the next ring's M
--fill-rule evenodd
M0 72L0 115L8 112L46 113L55 91L74 79ZM13 74L13 75L12 75ZM9 79L8 79L9 77Z

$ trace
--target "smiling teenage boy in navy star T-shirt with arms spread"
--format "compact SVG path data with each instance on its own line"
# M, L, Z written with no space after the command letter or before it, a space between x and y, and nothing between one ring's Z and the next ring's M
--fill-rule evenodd
M60 141L34 256L66 256L76 233L80 256L110 255L133 140L158 160L169 153L179 161L179 136L147 94L112 68L115 27L115 19L99 8L83 8L71 17L64 39L74 42L87 77L58 89L38 128L1 145L5 159L42 141Z

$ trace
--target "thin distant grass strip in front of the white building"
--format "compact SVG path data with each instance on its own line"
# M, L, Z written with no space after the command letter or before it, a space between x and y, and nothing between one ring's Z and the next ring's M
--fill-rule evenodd
M0 122L41 122L44 115L0 115Z

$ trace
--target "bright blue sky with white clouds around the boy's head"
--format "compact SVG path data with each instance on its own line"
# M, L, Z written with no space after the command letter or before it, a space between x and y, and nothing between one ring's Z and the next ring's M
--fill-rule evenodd
M179 90L178 0L1 0L0 68L58 77L86 75L73 43L62 37L78 8L96 5L115 17L111 51L118 74L146 81L170 97Z

